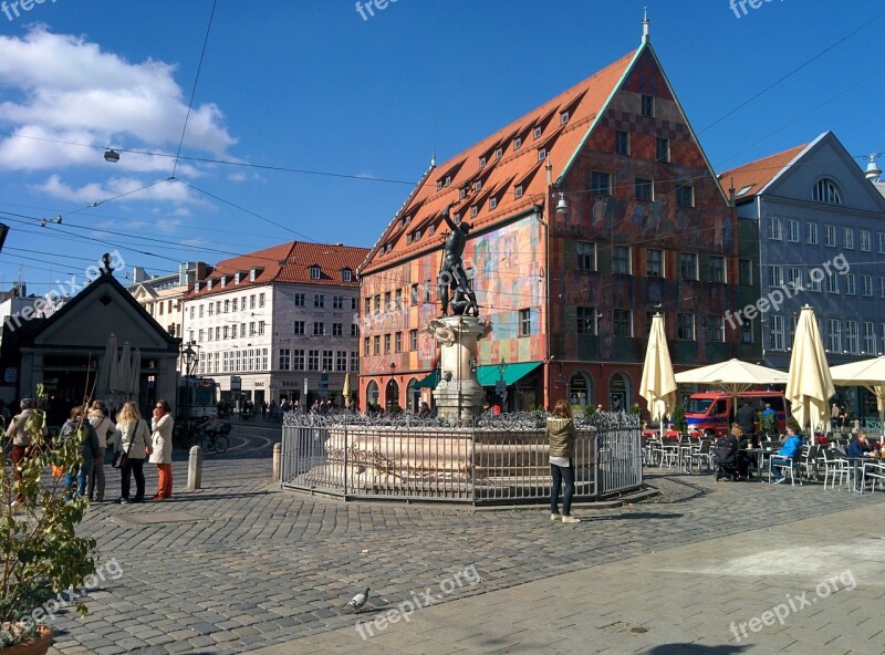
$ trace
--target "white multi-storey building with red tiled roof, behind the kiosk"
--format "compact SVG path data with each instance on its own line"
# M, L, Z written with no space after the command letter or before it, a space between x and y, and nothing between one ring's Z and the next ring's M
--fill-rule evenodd
M184 302L196 373L214 377L230 402L331 397L341 406L348 372L356 391L355 271L367 252L293 241L209 268Z

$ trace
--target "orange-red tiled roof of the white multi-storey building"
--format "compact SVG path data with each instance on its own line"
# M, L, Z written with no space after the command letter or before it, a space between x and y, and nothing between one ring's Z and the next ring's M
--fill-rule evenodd
M199 292L190 289L186 298L205 298L271 282L357 287L356 268L367 253L368 248L355 248L341 243L290 241L218 262L210 268L206 279L199 281ZM313 267L320 269L319 279L311 274ZM256 269L256 279L251 280L250 273L253 268ZM344 281L345 270L353 273L350 281ZM238 272L240 273L240 283L235 284ZM225 287L221 287L222 275L227 277ZM208 280L212 280L211 289L207 289Z

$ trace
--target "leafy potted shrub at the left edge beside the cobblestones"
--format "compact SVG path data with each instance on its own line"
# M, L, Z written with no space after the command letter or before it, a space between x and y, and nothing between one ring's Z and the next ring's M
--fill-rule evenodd
M40 398L42 389L38 392ZM45 653L52 643L52 630L45 622L59 606L56 594L71 590L64 597L73 597L72 590L95 571L95 540L75 533L87 500L76 495L66 499L75 489L67 489L64 476L55 475L79 466L77 439L44 439L44 413L38 409L25 424L31 446L18 465L20 479L11 465L0 472L2 655ZM17 497L23 500L19 502ZM84 615L86 607L79 603L76 611Z

